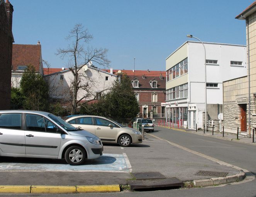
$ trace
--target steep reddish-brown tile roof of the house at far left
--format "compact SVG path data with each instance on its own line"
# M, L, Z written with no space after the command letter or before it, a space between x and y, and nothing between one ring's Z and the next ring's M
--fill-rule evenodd
M12 45L12 70L17 70L18 66L32 65L35 72L39 73L41 60L41 45Z

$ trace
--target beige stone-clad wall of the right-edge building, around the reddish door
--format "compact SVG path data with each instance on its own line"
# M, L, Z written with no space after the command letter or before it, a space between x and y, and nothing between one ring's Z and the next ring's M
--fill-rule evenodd
M256 12L248 17L249 26L246 22L246 43L248 46L249 28L249 60L250 63L250 119L251 130L256 127ZM247 47L248 51L248 47ZM247 68L248 69L248 68ZM249 70L247 70L249 71ZM249 75L249 72L248 72ZM247 136L249 136L249 78L241 77L227 82L223 82L223 114L225 132L234 132L237 127L241 127L241 107L239 103L247 104ZM252 132L251 132L252 134Z

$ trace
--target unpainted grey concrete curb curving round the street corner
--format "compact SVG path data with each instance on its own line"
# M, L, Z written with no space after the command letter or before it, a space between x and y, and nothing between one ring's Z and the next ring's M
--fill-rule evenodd
M194 187L205 187L205 186L213 186L213 185L221 185L233 182L239 182L244 180L246 177L244 172L240 172L235 175L230 175L227 177L217 177L217 178L210 178L210 179L199 179L193 180Z

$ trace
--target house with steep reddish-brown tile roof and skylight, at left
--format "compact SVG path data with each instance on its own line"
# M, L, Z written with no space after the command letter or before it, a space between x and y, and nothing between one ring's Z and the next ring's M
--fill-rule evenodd
M41 44L36 45L13 44L12 46L12 87L19 87L22 74L28 65L35 68L35 72L44 75L42 64Z

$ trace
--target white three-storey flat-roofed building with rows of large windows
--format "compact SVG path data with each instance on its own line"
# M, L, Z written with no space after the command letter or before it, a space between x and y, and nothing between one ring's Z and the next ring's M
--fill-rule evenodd
M205 64L207 119L222 113L222 82L247 75L246 46L187 41L166 58L166 122L203 129Z

